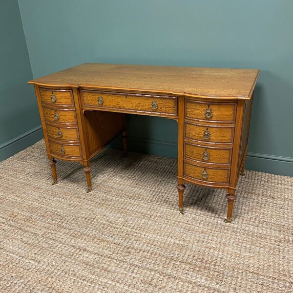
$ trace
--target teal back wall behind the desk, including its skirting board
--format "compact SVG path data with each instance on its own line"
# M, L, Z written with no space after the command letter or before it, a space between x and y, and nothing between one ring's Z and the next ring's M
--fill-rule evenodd
M34 78L84 62L260 69L246 167L293 175L292 0L19 5ZM127 122L132 150L176 156L176 122L134 115Z

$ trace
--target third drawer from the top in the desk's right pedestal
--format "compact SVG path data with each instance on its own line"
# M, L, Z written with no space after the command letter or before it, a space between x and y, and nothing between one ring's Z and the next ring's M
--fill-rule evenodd
M213 164L231 164L231 148L197 146L184 143L184 157Z

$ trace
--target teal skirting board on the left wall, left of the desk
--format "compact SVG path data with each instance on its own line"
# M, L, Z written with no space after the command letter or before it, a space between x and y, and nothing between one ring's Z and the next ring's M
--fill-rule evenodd
M44 137L42 126L37 126L12 140L0 145L0 161L6 160Z

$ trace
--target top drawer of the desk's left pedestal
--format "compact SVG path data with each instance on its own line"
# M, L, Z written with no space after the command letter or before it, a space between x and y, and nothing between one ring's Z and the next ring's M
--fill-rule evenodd
M74 106L73 94L70 89L49 89L40 87L40 96L42 103Z

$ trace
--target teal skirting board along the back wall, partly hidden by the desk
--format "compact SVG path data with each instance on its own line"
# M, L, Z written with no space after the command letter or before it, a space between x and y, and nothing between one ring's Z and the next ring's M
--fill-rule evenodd
M121 139L115 140L109 147L122 149ZM177 142L127 136L127 149L177 158ZM245 168L276 175L293 176L293 158L248 152Z

